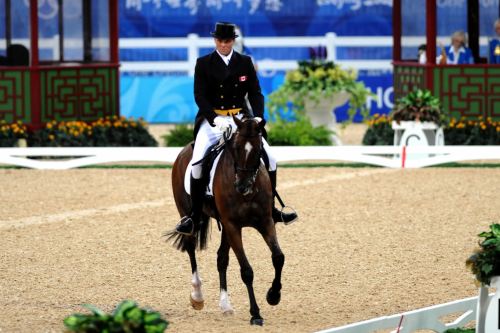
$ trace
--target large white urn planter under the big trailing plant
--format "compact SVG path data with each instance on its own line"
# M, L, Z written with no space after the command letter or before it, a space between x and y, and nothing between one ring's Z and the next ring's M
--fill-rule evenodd
M342 144L336 135L337 118L335 117L335 109L344 105L350 98L350 94L345 91L335 93L328 97L320 98L319 101L306 99L304 101L304 111L311 119L313 126L324 125L328 129L335 132L332 135L332 141L335 145Z

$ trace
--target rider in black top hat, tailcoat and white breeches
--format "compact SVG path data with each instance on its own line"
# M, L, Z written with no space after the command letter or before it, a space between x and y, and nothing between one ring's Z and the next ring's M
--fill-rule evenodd
M264 118L264 96L252 60L233 50L234 41L238 37L235 25L218 22L212 36L215 50L197 59L194 73L194 98L199 110L194 126L195 145L191 160L192 208L191 214L184 216L176 226L176 231L185 235L192 235L195 226L200 223L205 196L201 163L193 163L203 158L208 147L218 142L228 127L236 127L232 115L237 115L240 119L243 115L250 115L245 97L253 115ZM268 172L274 194L276 159L266 140L263 138L262 141L269 159ZM290 224L297 219L297 214L284 213L273 206L273 219L275 222Z

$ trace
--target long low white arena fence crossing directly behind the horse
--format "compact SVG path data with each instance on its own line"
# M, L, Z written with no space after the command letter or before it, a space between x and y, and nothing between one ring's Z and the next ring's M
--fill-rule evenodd
M279 163L341 161L387 168L422 168L452 162L500 161L500 146L273 146ZM0 148L0 164L63 170L104 163L171 164L181 148ZM31 158L34 157L34 158Z

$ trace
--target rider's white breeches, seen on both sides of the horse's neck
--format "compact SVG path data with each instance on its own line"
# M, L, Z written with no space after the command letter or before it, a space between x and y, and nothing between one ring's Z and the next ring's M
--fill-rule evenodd
M243 115L239 114L236 117L241 119ZM236 124L234 123L233 117L226 116L226 118L229 124L231 125L233 132L236 131ZM196 134L196 140L194 143L194 150L193 150L193 158L191 160L191 166L192 166L191 175L193 176L193 178L196 179L201 178L202 167L201 163L197 165L192 165L192 164L201 160L205 155L207 149L211 145L217 143L221 138L222 138L222 132L217 127L210 126L210 124L206 119L203 120L200 126L200 130L198 131L198 134ZM274 171L276 170L276 158L272 154L271 147L267 143L266 139L262 138L262 144L269 158L269 170Z

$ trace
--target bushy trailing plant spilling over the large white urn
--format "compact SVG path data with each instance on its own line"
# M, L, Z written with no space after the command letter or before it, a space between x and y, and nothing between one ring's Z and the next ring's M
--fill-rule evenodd
M368 115L366 97L370 92L363 82L356 81L354 70L343 70L332 61L321 59L299 61L298 65L269 95L267 106L274 118L280 118L277 111L288 110L290 102L296 117L308 116L315 126L331 125L335 121L332 110L347 101L351 120L358 109L364 117Z

